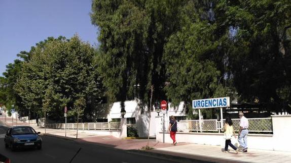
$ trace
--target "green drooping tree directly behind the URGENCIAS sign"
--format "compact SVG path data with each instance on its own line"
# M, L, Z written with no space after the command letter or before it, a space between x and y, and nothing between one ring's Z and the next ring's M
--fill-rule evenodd
M166 95L174 106L184 101L192 118L193 99L229 95L228 87L220 82L225 74L220 69L222 57L217 55L217 24L205 16L204 8L203 4L189 1L181 10L181 29L171 35L164 48ZM216 118L213 110L202 110L204 113L207 118Z

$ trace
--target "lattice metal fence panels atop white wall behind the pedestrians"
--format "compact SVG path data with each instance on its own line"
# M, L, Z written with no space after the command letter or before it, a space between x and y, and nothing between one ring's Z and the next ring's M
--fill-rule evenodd
M235 131L239 130L240 119L232 119ZM162 123L162 122L161 122ZM177 132L223 132L221 121L217 120L183 120L177 122ZM163 131L163 124L161 124ZM168 130L169 121L165 121L165 131ZM271 133L273 132L272 118L249 118L248 131L253 133Z

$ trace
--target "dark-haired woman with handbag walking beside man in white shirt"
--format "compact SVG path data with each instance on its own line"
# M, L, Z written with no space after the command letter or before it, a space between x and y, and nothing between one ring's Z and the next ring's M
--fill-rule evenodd
M237 154L238 153L238 149L237 147L235 147L232 143L231 143L231 138L232 136L234 135L234 137L236 138L236 135L235 135L235 132L233 130L233 123L232 123L232 120L227 117L225 119L225 125L224 125L224 128L225 128L225 132L224 132L224 135L225 135L225 152L228 152L228 146L232 147L234 150L235 150L235 153Z

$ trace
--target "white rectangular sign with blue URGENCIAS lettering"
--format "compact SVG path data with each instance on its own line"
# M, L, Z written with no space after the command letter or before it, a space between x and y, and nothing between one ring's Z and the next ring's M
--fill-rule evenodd
M229 107L229 97L197 99L192 101L193 108Z

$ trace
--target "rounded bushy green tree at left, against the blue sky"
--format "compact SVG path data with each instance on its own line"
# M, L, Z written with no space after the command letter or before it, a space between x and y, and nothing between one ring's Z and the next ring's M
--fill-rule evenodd
M85 112L90 114L104 98L97 65L93 64L95 52L78 36L69 40L50 37L35 47L30 61L23 64L16 87L27 107L42 114L46 105L49 117L61 121L64 106L73 106L83 94Z

